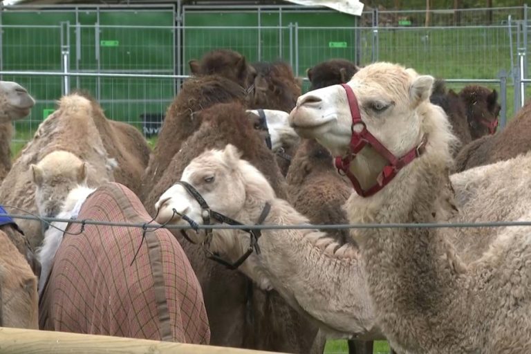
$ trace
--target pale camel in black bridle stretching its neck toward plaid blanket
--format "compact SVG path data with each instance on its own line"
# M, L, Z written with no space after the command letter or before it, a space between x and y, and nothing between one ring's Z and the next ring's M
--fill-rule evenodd
M245 225L309 222L286 201L277 198L261 171L241 157L233 145L206 151L189 163L180 180L192 185L209 208ZM266 203L270 210L264 218ZM203 223L202 207L183 185L167 189L156 207L159 223L186 224L176 216L182 214ZM203 232L187 234L196 242L205 240ZM251 254L239 270L261 288L277 290L328 335L372 339L378 330L357 250L351 245L338 248L337 243L325 236L316 230L262 230L258 239L260 254ZM209 250L230 261L241 257L251 242L241 231L217 229L209 240Z

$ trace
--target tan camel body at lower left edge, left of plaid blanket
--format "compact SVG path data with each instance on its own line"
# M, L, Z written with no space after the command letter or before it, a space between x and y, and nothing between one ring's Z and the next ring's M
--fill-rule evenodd
M37 329L37 278L2 231L0 245L0 326Z

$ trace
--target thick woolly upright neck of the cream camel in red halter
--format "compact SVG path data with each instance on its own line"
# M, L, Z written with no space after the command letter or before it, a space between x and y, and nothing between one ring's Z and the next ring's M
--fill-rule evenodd
M371 198L351 196L347 202L351 223L433 223L444 218L449 179L444 159L440 163L437 159L427 153ZM397 337L415 343L417 338L404 338L404 333L414 333L407 326L429 327L434 313L459 308L457 295L462 293L465 268L444 229L382 228L351 234L360 244L378 322L391 339L400 331ZM396 326L397 317L403 328Z

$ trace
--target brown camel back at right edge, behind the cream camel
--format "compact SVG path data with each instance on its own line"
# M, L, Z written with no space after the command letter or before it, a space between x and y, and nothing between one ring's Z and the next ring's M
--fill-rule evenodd
M465 146L456 156L454 171L514 158L531 150L531 102L523 106L502 131L483 136Z

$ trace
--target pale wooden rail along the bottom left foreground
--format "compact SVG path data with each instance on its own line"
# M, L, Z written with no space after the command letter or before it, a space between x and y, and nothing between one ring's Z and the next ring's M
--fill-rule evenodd
M266 351L0 327L2 354L271 354Z

